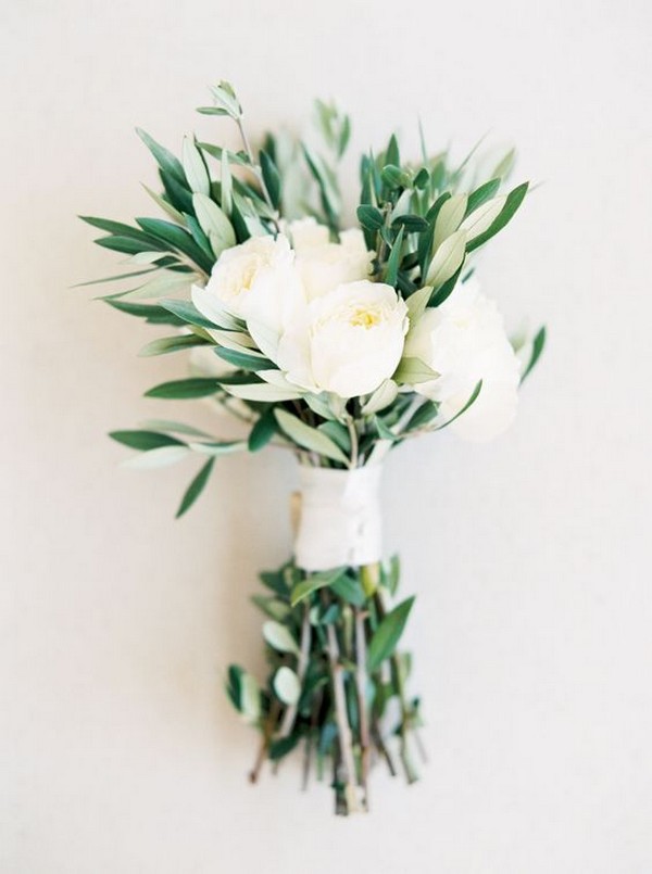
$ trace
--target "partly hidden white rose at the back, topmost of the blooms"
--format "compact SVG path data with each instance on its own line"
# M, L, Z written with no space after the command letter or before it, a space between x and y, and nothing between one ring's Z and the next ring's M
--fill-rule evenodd
M314 218L290 223L288 232L309 301L344 282L368 278L374 253L367 251L360 228L342 231L339 243L330 242L328 228Z

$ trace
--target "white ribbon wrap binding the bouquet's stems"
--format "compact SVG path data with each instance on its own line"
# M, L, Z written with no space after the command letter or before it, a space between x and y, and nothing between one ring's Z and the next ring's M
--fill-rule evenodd
M354 470L300 467L294 558L306 571L358 567L383 556L380 465Z

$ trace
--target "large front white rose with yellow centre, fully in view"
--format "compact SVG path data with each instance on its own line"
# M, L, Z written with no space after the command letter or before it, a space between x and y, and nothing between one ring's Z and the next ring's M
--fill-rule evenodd
M392 376L406 330L408 307L391 286L348 282L296 314L276 362L302 389L355 397Z

